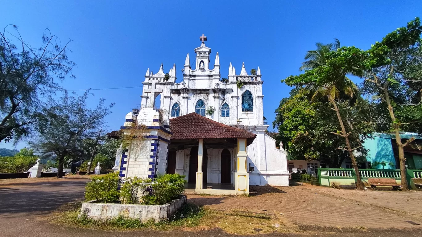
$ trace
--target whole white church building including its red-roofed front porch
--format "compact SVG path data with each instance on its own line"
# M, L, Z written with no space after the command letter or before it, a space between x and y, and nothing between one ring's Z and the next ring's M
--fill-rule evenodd
M166 160L162 161L161 169L155 170L186 175L188 182L192 183L198 180L195 174L201 171L203 183L200 186L204 186L204 189L216 187L216 184L234 187L235 174L239 169L247 173L246 183L249 185L288 186L286 153L283 148L277 149L276 140L265 134L268 125L264 124L260 68L257 67L256 75L249 75L243 64L238 70L240 73L236 73L230 63L228 75L221 75L218 52L212 60L214 65L211 65L211 48L205 45L205 36L200 40L202 43L194 49L192 62L187 54L180 75L183 81L176 83L176 65L170 68L169 73L164 73L163 65L157 73L150 69L146 71L141 110L138 115L128 113L125 126L131 122L145 124L148 121L156 123L152 125L160 124L158 133L161 131L163 136L169 138L163 138L168 154L163 158ZM227 80L221 80L222 77L227 77ZM160 110L151 110L158 94L161 94ZM160 112L157 113L160 118L154 121L143 115L154 111ZM202 117L193 116L192 113ZM149 127L154 127L152 125ZM125 126L122 127L123 131L127 128ZM243 161L238 164L242 146L239 140L242 138L238 137L236 143L233 140L236 138L231 137L235 134L245 138L244 169ZM201 147L203 151L200 151ZM202 156L200 161L198 155ZM117 156L116 169L123 165L119 162L121 154ZM202 170L199 162L202 163Z

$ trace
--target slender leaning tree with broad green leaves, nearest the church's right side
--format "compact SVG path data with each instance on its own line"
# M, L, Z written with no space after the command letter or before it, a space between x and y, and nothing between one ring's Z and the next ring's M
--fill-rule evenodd
M360 189L363 188L363 184L360 180L360 173L353 151L361 146L352 147L350 138L353 125L350 124L352 126L348 126L350 121L347 118L345 120L342 118L338 102L352 102L351 99L357 94L357 86L346 77L346 74L362 75L365 67L361 60L366 59L365 56L366 54L359 48L342 47L337 51L330 51L325 54L326 65L319 65L301 75L289 76L281 80L281 82L285 82L289 86L306 86L305 89L313 92L313 100L323 97L327 98L331 103L333 106L332 110L335 111L338 124L340 125L339 130L331 133L344 138L346 147L338 147L338 149L349 152L352 166L357 176L357 187ZM352 140L354 139L352 138Z

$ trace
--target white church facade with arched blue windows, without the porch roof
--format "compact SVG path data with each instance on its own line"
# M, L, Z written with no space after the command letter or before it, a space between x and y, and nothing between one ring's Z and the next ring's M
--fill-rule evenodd
M211 61L211 48L204 43L206 37L200 39L202 43L194 49L195 59L192 62L187 54L180 75L183 81L176 83L176 65L168 73L164 73L163 65L157 73L149 69L146 71L141 110L154 107L155 98L161 94L162 121L170 129L174 119L197 113L220 124L255 134L256 138L246 148L249 185L288 186L286 153L282 148L277 149L276 141L265 134L268 125L264 124L260 68L257 67L255 75L249 75L243 64L238 70L240 73L236 73L230 63L227 79L221 80L218 52ZM131 119L133 114L128 114L126 120L129 117ZM189 129L185 132L189 133ZM203 183L234 186L238 145L208 141L203 143ZM192 158L198 154L197 144L173 142L171 138L169 142L167 163L162 171L186 175L189 182L195 182L195 172L198 171L195 166L198 163Z

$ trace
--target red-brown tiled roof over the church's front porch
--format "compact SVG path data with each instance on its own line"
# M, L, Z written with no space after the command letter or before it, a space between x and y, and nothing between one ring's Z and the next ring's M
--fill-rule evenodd
M170 128L173 139L204 139L204 138L249 138L248 143L257 136L252 132L231 127L197 113L170 119ZM252 138L252 139L251 139Z

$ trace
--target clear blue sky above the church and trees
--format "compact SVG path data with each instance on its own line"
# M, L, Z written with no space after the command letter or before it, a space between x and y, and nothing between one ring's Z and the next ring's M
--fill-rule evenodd
M121 3L120 3L121 2ZM0 27L16 24L32 46L43 30L62 41L74 40L69 58L78 65L62 86L99 89L142 86L147 68L154 73L164 63L177 75L186 54L208 37L214 60L218 51L222 77L230 62L240 71L261 69L264 115L268 124L290 87L281 79L299 74L300 62L315 42L338 38L344 46L368 48L388 32L422 16L420 1L3 1ZM192 62L191 57L191 62ZM107 116L110 130L119 129L124 115L140 105L141 88L93 91L115 102ZM270 127L270 129L272 126ZM22 148L26 143L19 143ZM0 148L12 148L0 143Z

